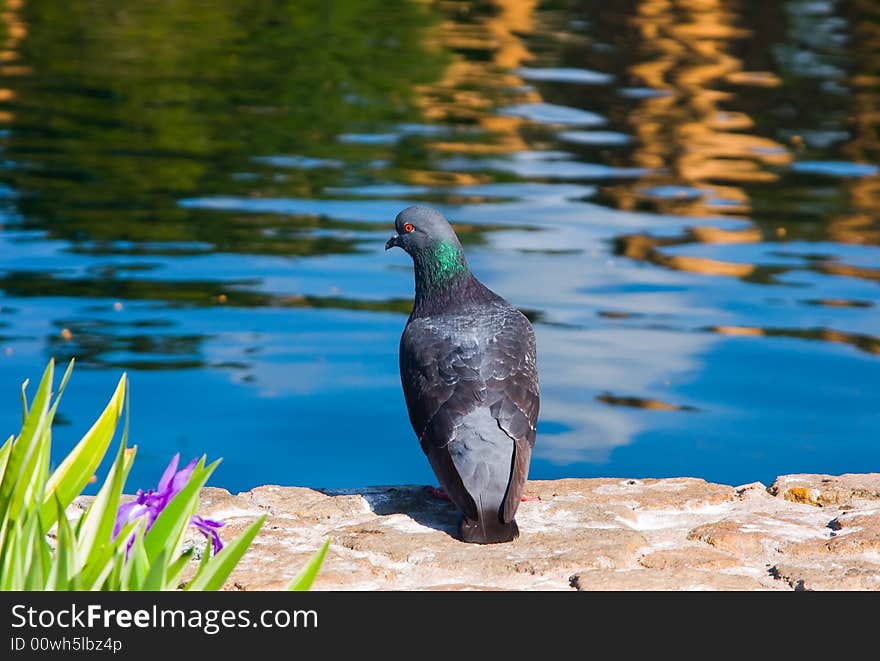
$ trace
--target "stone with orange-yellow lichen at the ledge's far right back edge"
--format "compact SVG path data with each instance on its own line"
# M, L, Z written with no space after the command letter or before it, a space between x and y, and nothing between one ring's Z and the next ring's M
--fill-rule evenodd
M860 500L880 500L880 473L782 475L768 491L816 507L851 505Z

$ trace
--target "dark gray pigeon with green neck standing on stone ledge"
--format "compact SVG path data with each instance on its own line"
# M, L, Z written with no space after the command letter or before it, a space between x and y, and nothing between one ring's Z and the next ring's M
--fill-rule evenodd
M408 207L394 226L385 249L405 250L415 271L413 310L400 338L410 422L460 512L461 540L512 541L538 419L534 330L471 274L439 212Z

